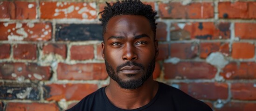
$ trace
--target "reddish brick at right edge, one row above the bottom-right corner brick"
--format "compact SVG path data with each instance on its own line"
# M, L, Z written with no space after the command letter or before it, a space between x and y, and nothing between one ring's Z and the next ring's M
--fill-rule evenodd
M256 100L255 83L233 83L231 85L232 99Z

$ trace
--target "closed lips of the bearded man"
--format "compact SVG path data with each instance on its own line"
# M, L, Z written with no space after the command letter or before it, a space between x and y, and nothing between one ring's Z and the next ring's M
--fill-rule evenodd
M142 70L142 68L140 68L138 66L125 66L120 69L120 72L124 73L124 74L136 74L141 70Z

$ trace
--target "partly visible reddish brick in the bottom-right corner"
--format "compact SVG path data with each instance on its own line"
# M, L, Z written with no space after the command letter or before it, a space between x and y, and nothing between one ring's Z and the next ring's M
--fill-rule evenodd
M215 111L252 111L253 109L256 109L256 103L230 102L221 109L216 108Z

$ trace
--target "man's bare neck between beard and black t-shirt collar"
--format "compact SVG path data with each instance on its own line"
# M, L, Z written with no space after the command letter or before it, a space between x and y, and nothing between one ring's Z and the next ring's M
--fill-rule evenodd
M105 92L110 102L121 109L136 109L148 104L156 95L158 83L149 77L145 83L137 89L123 89L118 83L110 79L110 85Z

